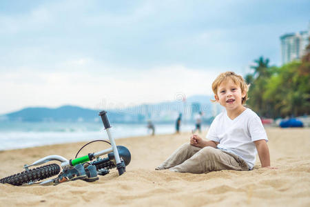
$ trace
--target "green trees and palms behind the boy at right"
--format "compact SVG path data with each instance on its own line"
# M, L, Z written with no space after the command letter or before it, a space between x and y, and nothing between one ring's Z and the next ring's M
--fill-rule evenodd
M277 67L269 66L269 59L259 57L255 63L251 66L254 72L245 76L250 84L250 108L266 118L309 115L310 44L300 61Z

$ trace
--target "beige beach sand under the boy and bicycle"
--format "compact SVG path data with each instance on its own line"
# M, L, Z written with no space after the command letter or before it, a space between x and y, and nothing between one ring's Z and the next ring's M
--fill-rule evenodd
M77 180L58 186L0 184L0 206L310 206L310 129L267 128L271 165L239 172L222 170L203 175L154 170L189 133L117 139L132 153L127 172L117 170L87 183ZM205 133L203 133L205 136ZM83 143L0 152L0 177L22 170L46 155L73 158ZM87 146L81 155L107 148Z

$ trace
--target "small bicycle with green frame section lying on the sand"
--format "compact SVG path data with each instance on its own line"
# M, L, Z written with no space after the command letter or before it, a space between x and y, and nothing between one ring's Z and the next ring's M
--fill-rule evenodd
M80 148L80 150L76 153L74 159L70 160L65 159L65 157L61 157L60 155L49 155L47 157L43 157L42 159L34 161L34 163L30 165L25 164L25 166L23 166L23 168L25 169L23 172L19 172L17 174L0 179L0 183L12 184L14 186L21 186L25 184L39 184L43 186L48 186L61 184L65 181L74 181L76 179L82 179L84 181L92 182L99 179L98 175L107 175L112 168L117 168L118 175L123 175L123 173L126 171L125 167L130 164L130 151L125 146L116 146L116 143L110 133L111 126L109 120L107 119L107 112L103 110L99 112L99 116L101 116L103 126L107 131L110 142L105 140L90 141L84 146L82 146L82 148ZM99 152L88 153L88 155L76 158L77 155L79 155L79 152L85 146L95 141L104 141L110 144L111 148L107 148ZM101 155L106 154L106 158L100 157ZM49 164L32 169L29 168L31 166L39 166L41 164L45 164L48 161L61 161L61 168L63 169L63 171L60 172L61 168L58 164ZM48 177L53 177L54 175L58 176L54 179L41 181Z

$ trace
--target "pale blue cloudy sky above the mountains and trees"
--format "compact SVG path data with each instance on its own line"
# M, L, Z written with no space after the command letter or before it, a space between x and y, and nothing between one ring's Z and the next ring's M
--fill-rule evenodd
M280 66L310 1L0 1L0 114L211 95L220 72Z

